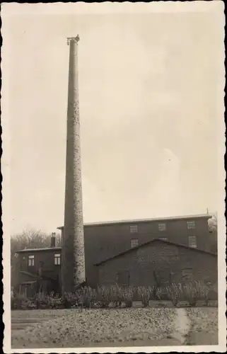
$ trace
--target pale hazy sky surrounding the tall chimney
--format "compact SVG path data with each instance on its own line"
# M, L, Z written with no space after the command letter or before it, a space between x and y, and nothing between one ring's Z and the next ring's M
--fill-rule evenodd
M8 17L11 233L64 224L77 34L83 221L216 211L218 30L205 12Z

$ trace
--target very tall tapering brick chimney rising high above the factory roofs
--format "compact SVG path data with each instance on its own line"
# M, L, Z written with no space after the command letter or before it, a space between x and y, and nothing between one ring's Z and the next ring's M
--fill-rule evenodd
M78 105L78 35L68 38L69 88L66 142L66 189L62 249L62 292L73 292L86 279L83 240L81 146Z

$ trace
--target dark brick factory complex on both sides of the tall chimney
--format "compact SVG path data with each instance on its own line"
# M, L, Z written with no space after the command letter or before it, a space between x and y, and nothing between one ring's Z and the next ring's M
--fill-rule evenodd
M86 284L95 288L115 281L121 285L122 277L129 275L130 285L152 285L153 271L161 272L165 281L170 276L180 281L185 271L191 272L190 279L210 278L216 282L217 257L210 252L207 241L209 218L204 214L84 224ZM64 244L64 227L59 229ZM36 291L39 272L45 291L61 292L62 247L55 247L54 238L49 248L19 250L18 255L21 292ZM106 273L109 268L110 273Z

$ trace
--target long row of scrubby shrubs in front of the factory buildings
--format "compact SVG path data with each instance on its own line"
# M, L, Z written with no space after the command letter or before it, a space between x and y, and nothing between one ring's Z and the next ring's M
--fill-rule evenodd
M102 286L97 289L82 287L74 293L59 295L39 293L28 299L16 295L11 299L12 308L71 308L71 307L132 307L134 300L140 300L144 307L149 306L151 300L170 300L174 306L180 301L186 301L195 306L199 300L209 302L209 287L201 282L189 284L170 284L165 287L120 287L118 285Z

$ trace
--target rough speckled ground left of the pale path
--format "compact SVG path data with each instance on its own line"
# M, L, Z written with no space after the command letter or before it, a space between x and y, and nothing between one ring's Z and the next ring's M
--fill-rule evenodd
M176 309L150 308L13 311L12 347L132 346L161 341L173 332L176 314ZM37 323L31 325L32 321ZM17 329L18 324L25 329Z

